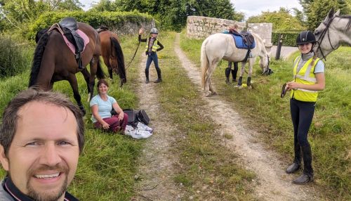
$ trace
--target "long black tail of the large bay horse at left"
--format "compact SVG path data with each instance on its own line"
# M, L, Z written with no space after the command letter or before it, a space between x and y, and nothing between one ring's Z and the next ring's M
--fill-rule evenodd
M32 70L29 76L28 87L37 84L38 74L41 66L41 60L43 59L43 54L47 43L48 43L48 33L46 32L40 37L37 47L35 48L35 51L34 51Z

